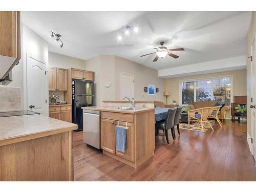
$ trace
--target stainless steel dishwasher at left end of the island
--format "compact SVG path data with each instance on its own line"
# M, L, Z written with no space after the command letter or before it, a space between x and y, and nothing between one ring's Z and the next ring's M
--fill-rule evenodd
M83 142L100 149L100 112L83 110Z

